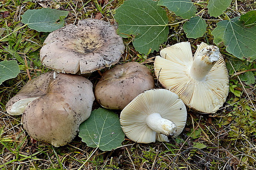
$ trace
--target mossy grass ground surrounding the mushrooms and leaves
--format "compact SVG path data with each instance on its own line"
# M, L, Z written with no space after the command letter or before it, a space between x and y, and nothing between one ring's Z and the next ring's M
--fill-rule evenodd
M123 0L102 0L102 4L95 0L42 0L36 3L28 0L3 0L0 2L0 28L5 31L0 36L12 33L22 26L20 15L27 9L49 7L70 11L66 18L66 25L96 16L101 20L114 23L113 15L122 3ZM253 0L234 0L227 14L232 18L255 8L256 3ZM171 12L168 16L169 20L181 21ZM221 15L221 17L225 16ZM215 21L211 22L211 26L215 27ZM208 31L204 37L193 40L186 38L180 26L172 26L165 45L182 41L189 41L192 44L204 41L213 44L210 34L212 29L207 28ZM0 42L1 60L16 59L21 69L17 78L7 80L0 85L0 170L77 170L94 151L93 156L81 169L255 169L255 84L248 84L248 77L244 75L250 69L254 69L255 74L256 65L255 62L236 59L225 51L224 46L220 46L221 53L227 62L231 86L227 102L215 114L201 115L188 111L183 133L176 139L170 138L170 142L137 144L125 139L122 147L103 152L87 147L78 136L73 142L62 147L53 147L31 139L20 123L21 116L6 114L5 105L29 79L49 71L41 65L39 60L39 51L47 35L48 33L38 33L24 27ZM144 63L151 71L154 70L154 56L159 55L158 52L142 56L135 51L131 38L124 39L124 42L126 49L120 63L137 61ZM93 85L96 85L99 78L99 72L94 72L89 79ZM253 78L255 78L254 75ZM157 88L162 87L157 84ZM98 108L99 105L95 103L94 107Z

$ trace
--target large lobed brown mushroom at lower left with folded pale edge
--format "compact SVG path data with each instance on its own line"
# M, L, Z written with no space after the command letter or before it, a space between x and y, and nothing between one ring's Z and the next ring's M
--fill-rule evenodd
M6 110L23 112L21 121L29 135L58 147L76 136L81 122L90 116L93 100L88 79L61 73L54 79L51 71L28 82L10 99Z

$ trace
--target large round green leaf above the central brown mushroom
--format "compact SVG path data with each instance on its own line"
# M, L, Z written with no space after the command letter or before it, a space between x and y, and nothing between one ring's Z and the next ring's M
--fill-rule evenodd
M133 35L133 45L141 54L159 51L169 34L166 11L153 0L126 0L114 16L119 35Z

